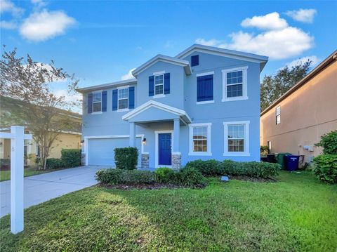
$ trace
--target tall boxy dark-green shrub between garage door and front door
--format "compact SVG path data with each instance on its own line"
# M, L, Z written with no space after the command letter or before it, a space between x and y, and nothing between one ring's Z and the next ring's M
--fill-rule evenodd
M114 161L117 169L135 170L138 162L138 149L136 147L114 149Z

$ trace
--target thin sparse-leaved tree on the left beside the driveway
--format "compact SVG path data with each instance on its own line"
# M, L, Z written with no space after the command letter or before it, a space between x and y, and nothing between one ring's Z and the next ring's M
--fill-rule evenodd
M45 169L55 139L74 126L60 108L70 110L79 105L79 100L68 101L65 96L55 95L51 84L63 81L67 84L68 95L73 95L79 80L74 74L55 67L53 60L45 65L35 62L29 55L18 57L16 48L9 52L5 49L6 46L0 60L1 95L3 99L18 100L18 104L11 106L10 113L1 113L1 126L25 126L41 147L40 167Z

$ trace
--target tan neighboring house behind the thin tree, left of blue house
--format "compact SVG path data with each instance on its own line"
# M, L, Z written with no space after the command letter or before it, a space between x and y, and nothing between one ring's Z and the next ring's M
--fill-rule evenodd
M18 100L1 96L0 113L11 113L11 106L15 106ZM58 138L53 142L52 149L48 158L60 158L62 149L80 149L81 148L81 114L60 110L60 116L70 117L77 125L72 131L60 133ZM9 131L9 128L1 128L1 131ZM25 129L29 133L29 129ZM35 158L40 155L40 147L34 140L25 140L25 165L35 164ZM11 140L0 138L0 159L11 159Z

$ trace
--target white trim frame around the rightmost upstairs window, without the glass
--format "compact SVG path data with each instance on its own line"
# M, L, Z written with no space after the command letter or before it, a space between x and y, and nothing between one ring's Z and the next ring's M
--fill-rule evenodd
M248 99L248 92L247 92L247 69L248 66L245 67L235 67L230 69L223 69L223 99L222 102L229 102L234 100L247 100ZM228 72L235 72L235 71L242 71L242 96L236 97L229 97L227 98L227 73Z

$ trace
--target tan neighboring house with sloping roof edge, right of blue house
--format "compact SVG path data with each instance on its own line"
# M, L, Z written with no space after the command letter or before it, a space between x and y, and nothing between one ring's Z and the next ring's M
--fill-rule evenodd
M260 114L260 145L275 153L305 155L310 163L322 153L315 143L333 130L337 130L337 51Z

